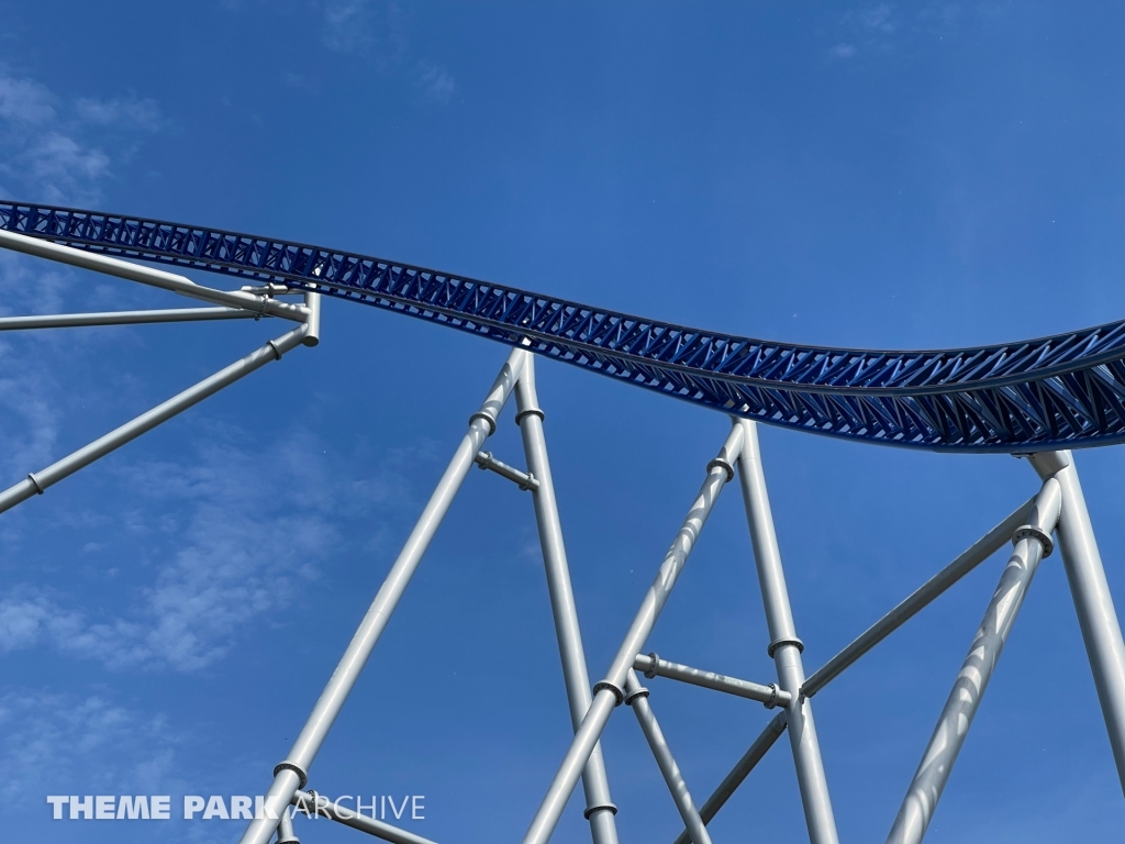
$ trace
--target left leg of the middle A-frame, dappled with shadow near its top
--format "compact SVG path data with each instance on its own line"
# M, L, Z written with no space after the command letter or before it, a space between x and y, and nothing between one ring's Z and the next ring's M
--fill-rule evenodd
M719 450L718 457L708 464L708 475L703 481L703 487L700 490L699 497L692 503L692 508L687 512L680 532L676 533L672 547L665 555L656 580L652 581L652 585L645 593L645 600L641 601L640 610L637 612L629 632L626 634L624 641L621 643L621 647L618 649L618 655L613 658L605 680L595 686L594 702L583 719L582 726L575 733L574 742L570 743L570 747L567 749L566 756L562 758L562 764L559 765L555 774L555 779L551 780L547 796L540 803L526 835L523 836L523 844L546 844L551 837L551 833L555 832L555 827L562 816L562 810L566 808L567 800L574 793L575 785L578 784L578 778L582 775L586 760L590 758L590 754L593 753L594 746L602 735L602 730L605 729L605 724L610 720L613 708L624 700L622 689L626 682L626 674L632 667L633 659L637 658L637 653L645 646L649 634L652 632L656 619L660 616L668 595L672 594L672 589L676 585L676 578L680 577L680 573L683 571L684 564L692 553L692 548L695 547L695 540L703 530L703 526L711 514L711 509L719 499L719 493L722 492L722 487L731 478L734 472L731 467L738 460L738 455L742 450L744 436L742 428L735 424L722 448ZM264 844L264 842L261 844Z

